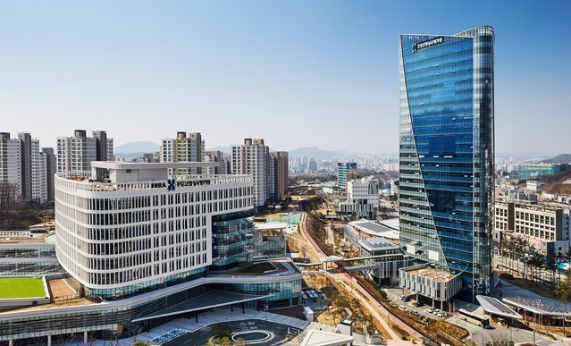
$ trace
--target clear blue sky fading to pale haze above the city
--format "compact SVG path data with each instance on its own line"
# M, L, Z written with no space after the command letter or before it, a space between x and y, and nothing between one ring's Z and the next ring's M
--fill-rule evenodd
M2 1L0 131L396 153L399 34L491 25L496 152L571 152L570 1Z

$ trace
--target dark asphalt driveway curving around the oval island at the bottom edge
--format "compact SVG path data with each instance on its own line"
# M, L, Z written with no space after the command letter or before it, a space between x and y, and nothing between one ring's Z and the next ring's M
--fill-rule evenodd
M232 333L247 332L247 331L268 331L273 334L273 337L265 342L256 343L260 346L270 346L286 342L288 338L288 331L291 335L296 336L301 333L298 328L290 327L288 325L280 325L273 322L263 320L250 320L250 321L233 321L225 323L230 326ZM208 339L212 337L213 325L208 325L193 333L186 333L171 342L164 343L165 346L180 346L180 345L204 345Z

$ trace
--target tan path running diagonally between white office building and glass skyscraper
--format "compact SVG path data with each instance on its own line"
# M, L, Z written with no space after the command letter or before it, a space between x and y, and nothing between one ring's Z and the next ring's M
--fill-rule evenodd
M313 240L313 238L309 235L309 233L306 230L306 221L307 221L307 214L306 213L302 213L301 221L302 222L301 222L300 227L299 227L301 234L304 236L304 238L306 238L306 240L309 242L309 244L315 250L315 253L317 253L317 255L320 258L327 257L327 255L323 252L323 250L321 248L319 248L317 243ZM336 266L334 263L332 263L332 265ZM347 284L351 291L353 291L351 286L355 287L357 289L358 292L355 292L355 293L357 293L357 294L355 294L355 296L357 297L358 300L360 300L363 303L363 305L366 308L369 308L369 311L371 311L373 316L381 323L382 327L390 334L390 337L392 338L392 340L390 341L391 345L392 344L395 344L395 345L407 344L408 345L408 344L410 344L410 342L404 342L404 341L400 340L401 338L399 337L399 335L397 335L397 333L395 333L390 328L387 321L385 320L385 317L381 316L381 314L384 316L389 316L388 319L390 319L390 321L392 323L399 325L399 327L401 329L407 331L407 333L413 335L417 339L419 339L422 336L421 333L416 332L416 330L411 328L409 325L407 325L403 321L399 320L399 318L397 316L392 315L386 308L384 308L380 303L378 303L369 294L369 292L367 292L365 290L365 288L363 288L359 283L357 283L355 280L353 280L351 275L349 275L347 273L339 273L339 274L334 274L333 277L336 280L339 280L340 282Z

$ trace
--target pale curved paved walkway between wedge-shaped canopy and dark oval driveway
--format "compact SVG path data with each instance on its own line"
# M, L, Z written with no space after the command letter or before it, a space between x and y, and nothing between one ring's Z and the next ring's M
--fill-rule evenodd
M214 325L223 322L231 321L249 321L249 320L263 320L269 321L281 325L288 325L291 327L299 328L304 330L304 333L309 329L319 329L325 332L335 333L337 328L331 325L322 325L318 323L311 323L307 321L302 321L298 318L283 316L278 314L273 314L271 312L256 311L254 309L247 308L245 313L242 313L241 309L235 309L233 312L230 308L214 308L212 310L206 311L198 316L198 322L193 319L179 318L173 320L164 325L160 325L153 328L147 333L140 333L139 335L131 338L122 339L119 341L104 341L92 339L89 341L89 345L93 346L131 346L135 342L145 342L158 346L165 342L172 341L175 336L181 335L183 333L195 332L206 325ZM303 336L302 336L303 339ZM80 346L85 345L83 342L65 342L65 345Z

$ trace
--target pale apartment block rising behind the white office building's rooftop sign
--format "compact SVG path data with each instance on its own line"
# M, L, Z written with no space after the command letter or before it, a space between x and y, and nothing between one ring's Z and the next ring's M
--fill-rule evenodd
M175 139L161 140L161 162L202 162L204 161L205 141L202 139L200 132L179 131L176 133ZM202 174L201 167L180 168L178 172L170 172L172 175L196 175Z

